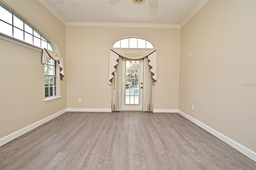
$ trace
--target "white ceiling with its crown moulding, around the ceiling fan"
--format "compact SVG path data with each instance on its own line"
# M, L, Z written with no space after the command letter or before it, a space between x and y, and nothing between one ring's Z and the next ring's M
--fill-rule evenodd
M143 4L132 0L38 1L68 26L180 28L209 0L158 0L155 9L150 9L149 0Z

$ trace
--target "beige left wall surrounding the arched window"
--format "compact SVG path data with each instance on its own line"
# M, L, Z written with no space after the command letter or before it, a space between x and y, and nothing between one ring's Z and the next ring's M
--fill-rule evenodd
M66 27L36 0L3 2L41 32L64 55ZM0 138L66 109L66 79L58 101L44 103L42 53L0 40Z

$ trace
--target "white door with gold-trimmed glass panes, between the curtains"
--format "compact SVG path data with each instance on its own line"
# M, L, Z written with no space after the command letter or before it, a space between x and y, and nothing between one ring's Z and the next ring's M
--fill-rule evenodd
M122 59L122 110L143 109L143 59Z

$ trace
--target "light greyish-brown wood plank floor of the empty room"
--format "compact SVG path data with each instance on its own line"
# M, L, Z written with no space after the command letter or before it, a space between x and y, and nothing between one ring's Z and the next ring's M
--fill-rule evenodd
M256 169L178 113L67 112L0 147L1 170Z

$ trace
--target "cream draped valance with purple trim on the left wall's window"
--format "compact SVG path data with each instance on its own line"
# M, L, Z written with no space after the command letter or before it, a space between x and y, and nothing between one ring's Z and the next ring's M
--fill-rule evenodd
M42 63L47 63L50 59L54 59L58 61L58 65L60 67L60 75L61 79L64 77L64 67L63 67L63 57L61 54L56 53L54 51L50 51L49 49L44 48L43 49L43 56L42 56Z

